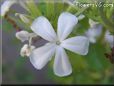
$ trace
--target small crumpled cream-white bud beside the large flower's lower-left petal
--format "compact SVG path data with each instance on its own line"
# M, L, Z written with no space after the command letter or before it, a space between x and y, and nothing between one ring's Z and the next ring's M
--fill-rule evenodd
M29 46L28 44L25 44L20 51L21 56L30 56L31 52L35 49L35 46Z

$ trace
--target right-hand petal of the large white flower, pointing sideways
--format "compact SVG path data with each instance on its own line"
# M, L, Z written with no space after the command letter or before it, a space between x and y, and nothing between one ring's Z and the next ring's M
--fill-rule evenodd
M72 37L64 40L61 46L74 53L86 55L88 53L89 40L84 36Z

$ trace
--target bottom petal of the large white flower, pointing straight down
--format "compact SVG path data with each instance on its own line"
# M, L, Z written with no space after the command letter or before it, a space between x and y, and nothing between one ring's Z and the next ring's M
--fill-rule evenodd
M54 73L57 76L68 76L72 73L72 67L68 60L65 50L58 46L56 48L56 55L54 60Z

